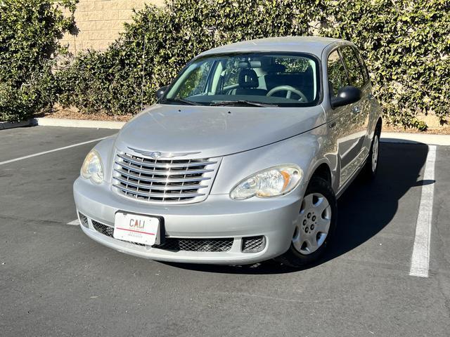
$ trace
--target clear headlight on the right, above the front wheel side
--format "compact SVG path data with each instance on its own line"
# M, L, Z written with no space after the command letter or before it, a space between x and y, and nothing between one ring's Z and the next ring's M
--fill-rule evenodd
M231 190L230 197L231 199L276 197L292 191L302 177L303 171L297 165L274 166L242 180Z

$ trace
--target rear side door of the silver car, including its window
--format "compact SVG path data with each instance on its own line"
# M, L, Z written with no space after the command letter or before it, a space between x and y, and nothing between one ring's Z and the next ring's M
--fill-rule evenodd
M369 118L369 94L371 93L370 81L363 72L361 62L359 61L356 50L352 46L343 46L340 48L342 59L344 60L345 69L349 78L349 84L356 86L361 90L361 100L350 105L350 119L352 122L352 138L356 142L354 145L354 169L362 164L368 154L367 147L367 128Z

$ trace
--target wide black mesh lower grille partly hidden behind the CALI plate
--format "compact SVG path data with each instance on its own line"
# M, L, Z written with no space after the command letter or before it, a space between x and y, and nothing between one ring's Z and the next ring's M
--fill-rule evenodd
M91 220L95 230L108 237L113 237L114 227L103 225L96 220ZM145 244L138 244L136 242L128 242L129 244L136 244L137 246L146 246ZM233 238L225 239L178 239L167 237L164 244L154 246L158 249L166 251L229 251L233 246Z

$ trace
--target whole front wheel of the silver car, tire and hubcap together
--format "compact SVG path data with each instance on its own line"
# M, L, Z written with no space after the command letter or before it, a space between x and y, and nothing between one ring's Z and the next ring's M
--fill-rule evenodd
M323 203L324 201L328 201L328 206ZM330 239L333 238L337 220L338 206L330 184L319 177L311 178L300 206L299 220L293 233L293 241L288 251L275 260L295 268L316 262L326 251ZM328 229L326 223L328 223ZM326 235L323 237L325 232ZM317 247L314 246L314 239L318 244Z

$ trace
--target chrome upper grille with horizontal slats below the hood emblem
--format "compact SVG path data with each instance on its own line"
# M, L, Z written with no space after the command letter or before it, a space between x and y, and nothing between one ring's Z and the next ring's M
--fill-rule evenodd
M219 159L150 159L117 152L113 187L142 201L202 201L210 192L219 164Z

